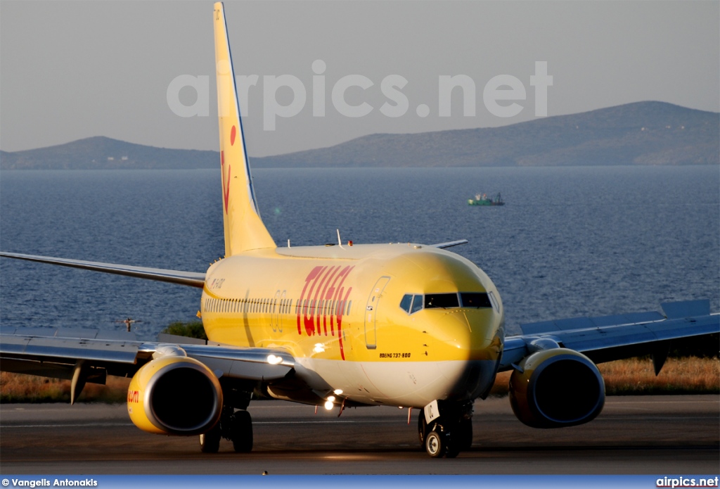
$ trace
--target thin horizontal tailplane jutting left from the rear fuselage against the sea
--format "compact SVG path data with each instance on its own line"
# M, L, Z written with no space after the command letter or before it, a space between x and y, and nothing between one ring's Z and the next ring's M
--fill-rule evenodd
M158 282L170 282L172 284L189 285L191 287L202 287L205 284L205 274L197 272L181 272L179 270L153 269L143 266L118 265L112 263L101 263L99 261L69 260L54 258L53 256L25 255L20 253L7 253L0 251L0 256L19 260L37 261L53 265L71 266L76 269L94 270L108 274L125 275L140 279L157 280Z

